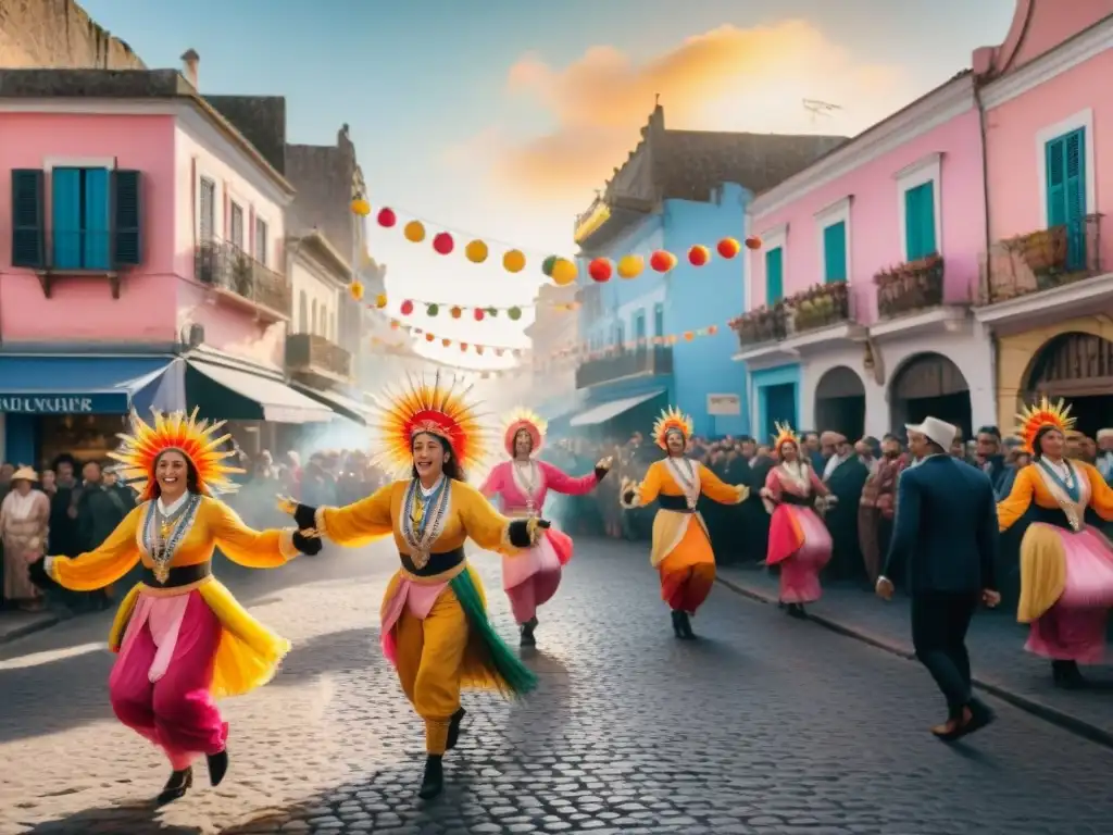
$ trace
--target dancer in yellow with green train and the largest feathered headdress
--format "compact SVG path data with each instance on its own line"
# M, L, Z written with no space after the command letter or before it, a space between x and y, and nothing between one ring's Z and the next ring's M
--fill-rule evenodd
M314 508L284 500L301 527L342 546L393 536L402 563L381 609L384 655L402 689L425 721L425 775L418 795L444 787L442 758L456 745L464 708L462 687L522 695L533 674L503 644L486 615L479 576L464 541L503 554L539 541L549 522L511 521L465 483L464 471L482 460L486 439L467 390L411 380L380 404L381 463L402 479L344 508Z

